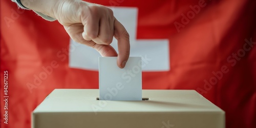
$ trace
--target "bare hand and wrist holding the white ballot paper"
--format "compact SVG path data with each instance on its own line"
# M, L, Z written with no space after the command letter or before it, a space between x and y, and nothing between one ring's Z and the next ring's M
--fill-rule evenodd
M130 37L111 9L80 0L20 2L29 9L57 19L73 40L96 49L101 56L117 56L117 66L124 68L130 55ZM110 45L113 37L118 41L118 54Z

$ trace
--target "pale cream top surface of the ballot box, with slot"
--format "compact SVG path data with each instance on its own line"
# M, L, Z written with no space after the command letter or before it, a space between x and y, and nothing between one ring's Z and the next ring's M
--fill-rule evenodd
M222 112L194 90L143 90L142 101L103 101L97 89L55 89L37 106L44 112Z

